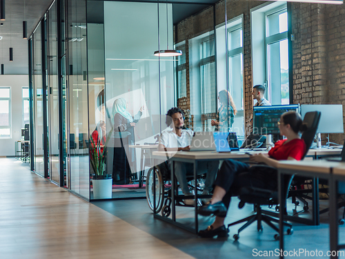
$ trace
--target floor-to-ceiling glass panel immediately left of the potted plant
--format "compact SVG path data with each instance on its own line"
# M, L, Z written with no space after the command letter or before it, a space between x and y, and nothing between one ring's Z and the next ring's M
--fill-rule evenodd
M68 1L68 153L70 190L89 198L86 1ZM84 136L85 140L84 140Z

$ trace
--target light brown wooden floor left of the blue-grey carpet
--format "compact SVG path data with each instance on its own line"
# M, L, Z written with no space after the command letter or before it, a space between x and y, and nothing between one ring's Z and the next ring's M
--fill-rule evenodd
M0 158L0 258L193 258Z

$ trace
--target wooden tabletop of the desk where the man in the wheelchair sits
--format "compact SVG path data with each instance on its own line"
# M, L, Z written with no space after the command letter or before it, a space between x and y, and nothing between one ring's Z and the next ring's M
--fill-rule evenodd
M267 151L246 151L248 153L267 153ZM204 160L204 159L236 159L236 158L248 158L249 155L242 151L233 151L231 153L218 153L217 151L156 151L152 153L155 158L162 157L178 157L187 158L190 160Z

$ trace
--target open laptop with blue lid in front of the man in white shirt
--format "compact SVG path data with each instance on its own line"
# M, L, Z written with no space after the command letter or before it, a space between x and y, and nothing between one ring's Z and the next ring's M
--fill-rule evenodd
M233 132L214 132L215 146L217 152L239 151L237 135Z

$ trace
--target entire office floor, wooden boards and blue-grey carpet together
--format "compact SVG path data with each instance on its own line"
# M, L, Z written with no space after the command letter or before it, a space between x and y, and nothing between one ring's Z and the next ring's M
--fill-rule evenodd
M234 198L226 223L253 213L253 206L238 209L237 205ZM258 232L255 224L250 225L237 242L232 236L239 226L231 227L228 239L204 239L154 219L146 200L86 202L31 173L28 164L14 158L0 158L0 208L0 259L237 259L260 258L253 249L279 248L279 242L273 239L275 231L266 225L263 232ZM193 215L193 210L190 213ZM309 217L311 213L299 215ZM319 226L293 224L294 234L285 236L286 251L317 249L326 255L327 213L321 220ZM212 221L213 218L205 217L201 228ZM342 243L344 229L345 226L339 227ZM345 258L345 253L339 258Z

